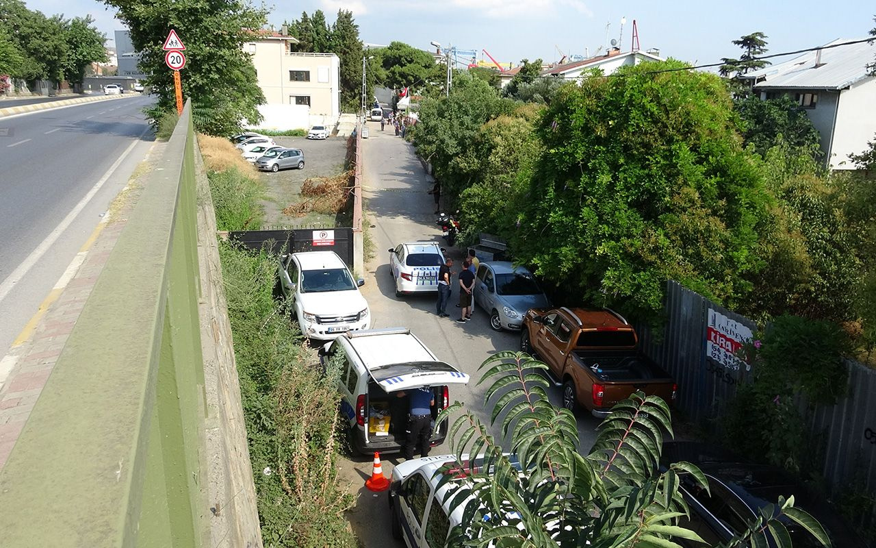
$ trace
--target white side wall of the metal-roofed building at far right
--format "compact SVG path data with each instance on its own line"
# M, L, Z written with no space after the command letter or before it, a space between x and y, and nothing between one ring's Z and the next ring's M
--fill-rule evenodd
M854 169L849 154L864 152L867 142L876 139L876 76L840 93L835 128L833 145L830 147L830 167Z

